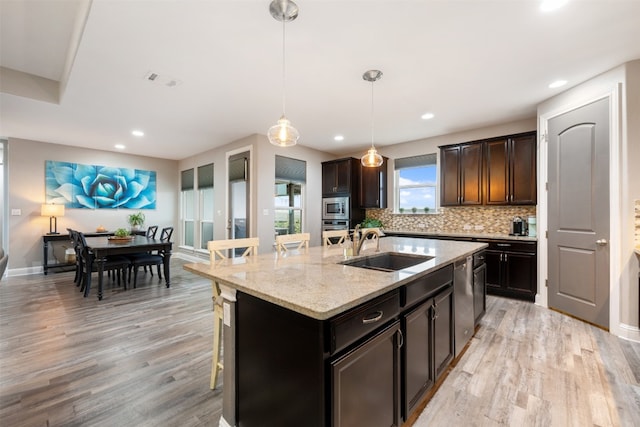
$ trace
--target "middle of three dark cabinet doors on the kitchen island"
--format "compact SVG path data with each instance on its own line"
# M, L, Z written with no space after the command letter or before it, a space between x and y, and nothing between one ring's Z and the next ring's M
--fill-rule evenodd
M404 317L405 419L411 415L427 391L433 387L430 298Z

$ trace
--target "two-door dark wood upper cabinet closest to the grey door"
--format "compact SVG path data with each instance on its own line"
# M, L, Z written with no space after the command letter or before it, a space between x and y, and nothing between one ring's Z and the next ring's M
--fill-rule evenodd
M485 141L485 204L536 204L536 132Z

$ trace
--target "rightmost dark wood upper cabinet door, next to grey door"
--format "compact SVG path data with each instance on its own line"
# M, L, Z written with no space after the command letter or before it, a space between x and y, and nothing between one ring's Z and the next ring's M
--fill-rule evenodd
M510 140L511 176L509 203L535 205L536 197L536 133Z

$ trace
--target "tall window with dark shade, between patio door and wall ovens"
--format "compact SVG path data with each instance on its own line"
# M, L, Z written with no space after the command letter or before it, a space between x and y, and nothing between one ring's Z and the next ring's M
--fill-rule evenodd
M307 178L307 163L276 156L275 178L275 234L302 233L302 193Z

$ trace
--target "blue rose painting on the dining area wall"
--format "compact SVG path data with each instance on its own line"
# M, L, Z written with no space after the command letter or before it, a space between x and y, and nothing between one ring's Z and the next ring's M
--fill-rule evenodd
M47 160L46 202L67 208L155 209L156 173Z

